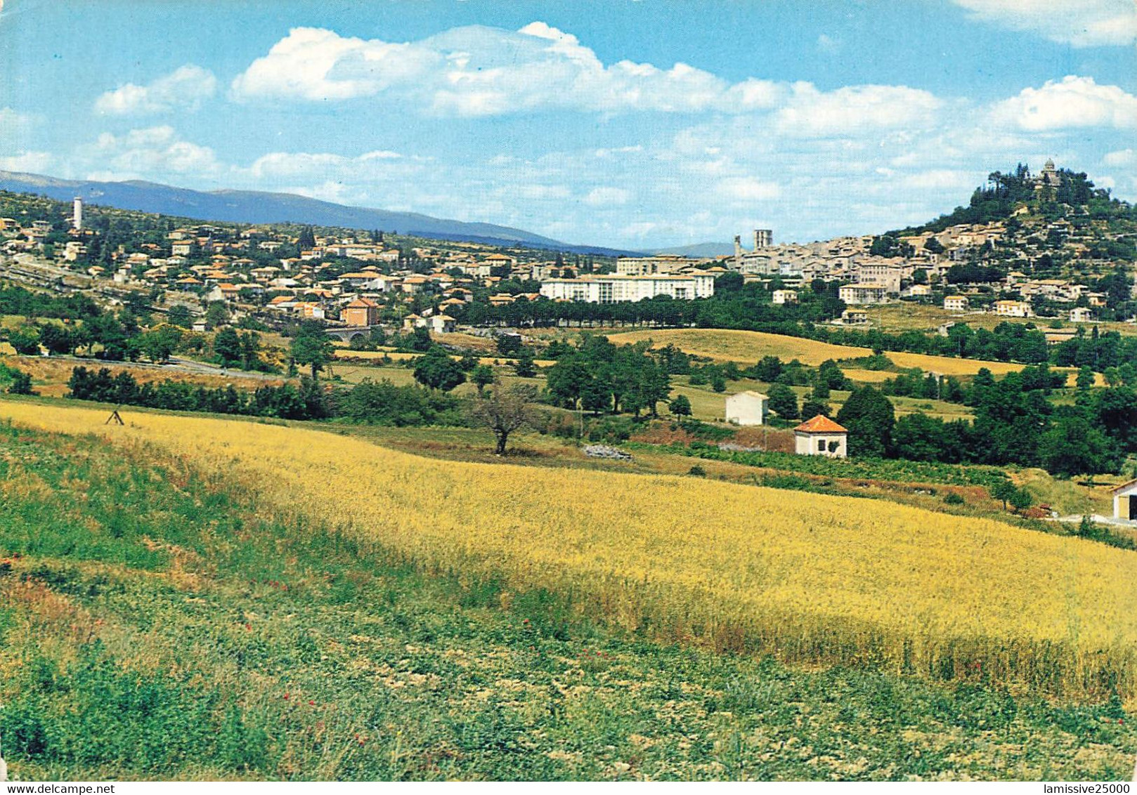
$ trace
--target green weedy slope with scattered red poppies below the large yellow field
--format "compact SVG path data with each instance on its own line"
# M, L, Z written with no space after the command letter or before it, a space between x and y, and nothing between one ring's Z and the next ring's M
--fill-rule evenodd
M659 647L273 518L231 467L0 425L23 780L1121 779L1117 703Z

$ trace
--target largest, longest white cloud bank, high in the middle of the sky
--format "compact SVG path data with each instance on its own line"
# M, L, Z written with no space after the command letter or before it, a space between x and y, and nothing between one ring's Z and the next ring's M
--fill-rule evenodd
M786 86L737 84L687 64L611 65L576 36L542 22L520 31L472 25L415 42L298 27L232 84L238 100L345 101L381 93L442 116L539 110L747 112L773 107Z

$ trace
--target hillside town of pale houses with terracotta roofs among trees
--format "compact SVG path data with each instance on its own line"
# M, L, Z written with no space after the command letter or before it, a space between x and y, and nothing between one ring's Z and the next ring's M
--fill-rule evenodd
M1047 161L1024 181L1043 196L1062 186L1067 174ZM866 308L894 302L935 306L961 319L989 313L1132 321L1110 315L1111 298L1101 284L1113 269L1131 266L1134 235L1111 233L1110 221L1086 204L1054 201L1045 214L1022 203L1006 219L805 244L774 244L773 231L755 229L752 248L738 236L733 256L703 259L549 258L537 249L384 238L382 232L316 234L294 225L171 219L164 219L168 229L115 240L105 215L75 199L70 208L40 217L25 210L0 218L3 275L91 291L111 304L144 293L159 311L184 306L200 330L208 325L206 309L217 303L234 317L269 325L385 323L445 333L464 319L476 323L476 315L465 318L474 301L504 307L707 299L729 274L760 285L772 304L794 304L803 291L837 285L844 309L832 323L848 326L868 325Z

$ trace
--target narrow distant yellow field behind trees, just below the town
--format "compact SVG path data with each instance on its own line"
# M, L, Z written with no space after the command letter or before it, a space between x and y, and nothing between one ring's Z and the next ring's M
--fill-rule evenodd
M872 355L868 348L831 345L828 342L804 340L783 334L742 332L724 328L659 328L613 334L608 338L616 344L653 340L657 346L674 345L688 353L707 357L717 361L752 362L762 357L775 355L782 360L799 359L803 365L820 365L825 359L855 359ZM1022 365L981 359L953 359L924 353L885 353L897 367L919 367L922 370L948 376L974 375L986 367L995 375L1021 370ZM891 377L886 374L886 377Z

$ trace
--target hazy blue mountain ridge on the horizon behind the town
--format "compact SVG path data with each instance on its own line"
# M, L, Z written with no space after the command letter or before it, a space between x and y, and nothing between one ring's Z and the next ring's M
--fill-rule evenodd
M160 212L200 220L234 224L314 224L351 229L380 229L434 240L462 240L491 245L528 245L537 249L596 253L634 254L595 245L573 245L550 237L497 224L432 218L417 212L393 212L368 207L348 207L293 193L262 191L192 191L152 182L91 182L58 179L39 174L0 170L0 190L35 193L57 201L81 196L91 204L122 210Z

